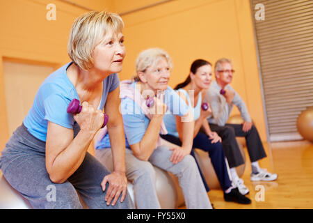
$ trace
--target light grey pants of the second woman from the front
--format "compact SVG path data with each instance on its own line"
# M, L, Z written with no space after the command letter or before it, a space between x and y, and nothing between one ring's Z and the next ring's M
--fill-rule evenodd
M134 197L137 208L161 208L155 187L154 166L170 171L178 177L182 187L186 208L209 208L211 202L201 180L198 167L191 155L186 155L181 162L170 162L172 151L166 146L157 147L148 161L139 160L130 149L126 149L126 176L134 185ZM97 149L95 157L108 169L113 168L111 148Z

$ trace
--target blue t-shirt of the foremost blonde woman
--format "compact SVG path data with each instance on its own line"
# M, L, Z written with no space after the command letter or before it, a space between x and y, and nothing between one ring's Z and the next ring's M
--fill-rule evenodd
M79 100L77 91L66 75L72 62L65 64L45 79L38 89L33 106L24 118L24 125L34 137L46 141L48 121L65 128L73 128L74 118L66 112L74 98ZM117 74L109 75L103 81L102 99L98 109L103 109L106 97L120 84Z

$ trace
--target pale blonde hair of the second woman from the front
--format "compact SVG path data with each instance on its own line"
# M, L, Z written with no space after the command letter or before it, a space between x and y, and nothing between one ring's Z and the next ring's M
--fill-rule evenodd
M172 59L164 49L150 48L141 52L136 59L136 73L145 72L147 68L154 67L161 58L166 59L170 70L172 70ZM140 81L138 75L133 77L134 81Z

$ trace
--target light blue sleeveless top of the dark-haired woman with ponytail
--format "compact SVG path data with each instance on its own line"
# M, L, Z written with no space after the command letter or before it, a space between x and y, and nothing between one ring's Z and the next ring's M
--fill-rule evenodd
M191 106L191 100L189 97L189 94L184 89L178 89L177 91L180 91L186 95L186 98L188 100L188 106L191 111L191 114L193 114L193 118L196 121L200 117L201 112L201 102L202 102L202 94L200 93L197 105L195 107ZM169 114L168 116L164 116L163 121L166 125L166 130L168 130L168 134L172 134L175 137L179 137L177 132L177 125L176 125L176 119L174 114Z

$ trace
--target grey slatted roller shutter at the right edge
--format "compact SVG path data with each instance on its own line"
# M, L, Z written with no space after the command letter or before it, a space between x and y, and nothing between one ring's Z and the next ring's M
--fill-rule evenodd
M264 6L264 20L255 16ZM313 1L250 0L270 141L302 139L298 115L313 105Z

